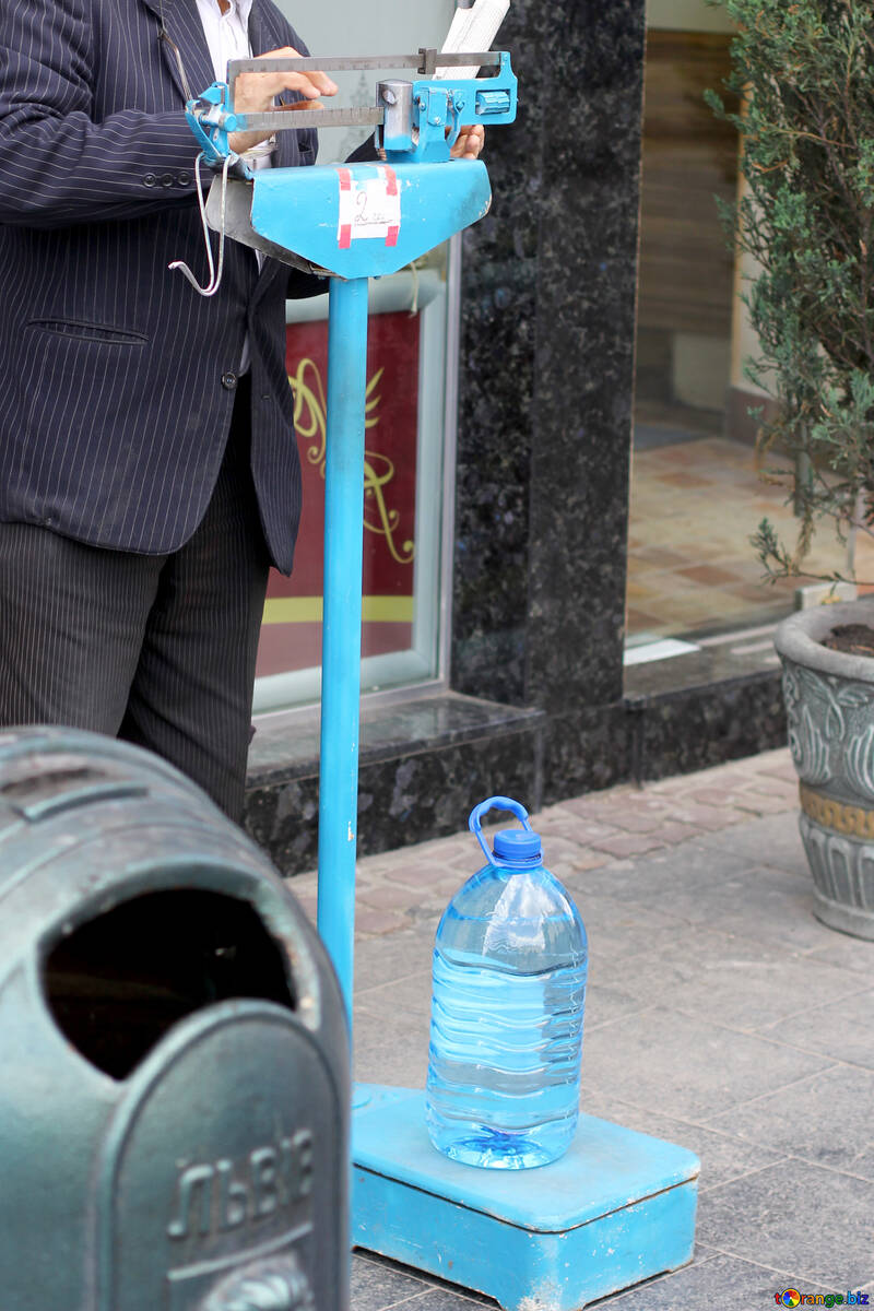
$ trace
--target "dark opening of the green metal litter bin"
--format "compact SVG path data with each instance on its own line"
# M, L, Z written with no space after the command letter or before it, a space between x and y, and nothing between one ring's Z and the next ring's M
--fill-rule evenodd
M43 990L64 1037L114 1079L216 1002L295 1009L283 952L253 907L195 889L145 893L80 924L48 952Z

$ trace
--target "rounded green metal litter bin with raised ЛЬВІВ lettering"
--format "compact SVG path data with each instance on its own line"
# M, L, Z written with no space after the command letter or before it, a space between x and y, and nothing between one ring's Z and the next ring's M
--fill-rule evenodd
M0 1303L345 1311L347 1106L254 844L144 751L0 734Z

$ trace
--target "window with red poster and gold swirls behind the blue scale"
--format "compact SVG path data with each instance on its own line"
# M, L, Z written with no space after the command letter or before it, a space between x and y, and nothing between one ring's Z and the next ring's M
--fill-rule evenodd
M439 46L453 5L362 5L334 0L307 20L279 0L313 54L363 55ZM337 37L341 33L342 37ZM370 105L387 71L332 73L343 105ZM320 134L320 163L345 159L368 130ZM362 687L421 683L442 673L446 595L446 455L453 395L457 243L370 292L364 475ZM328 296L288 302L287 368L303 465L304 509L291 578L271 572L258 650L256 712L316 700L320 692Z

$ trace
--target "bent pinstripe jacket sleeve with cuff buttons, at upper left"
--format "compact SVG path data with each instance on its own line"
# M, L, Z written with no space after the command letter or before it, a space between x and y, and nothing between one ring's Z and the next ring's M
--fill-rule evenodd
M94 123L97 58L85 0L1 0L0 223L56 228L191 203L198 149L185 114ZM174 191L156 195L168 173Z

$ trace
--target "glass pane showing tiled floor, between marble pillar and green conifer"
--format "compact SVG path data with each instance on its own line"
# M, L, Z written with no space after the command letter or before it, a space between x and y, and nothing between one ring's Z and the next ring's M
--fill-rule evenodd
M765 517L786 540L797 526L759 477L750 410L768 397L744 376L757 343L740 300L755 269L715 202L735 203L739 143L704 92L723 93L731 28L705 0L650 0L647 20L626 614L629 645L655 652L768 625L798 581L764 582L750 541ZM831 535L811 562L841 566Z

